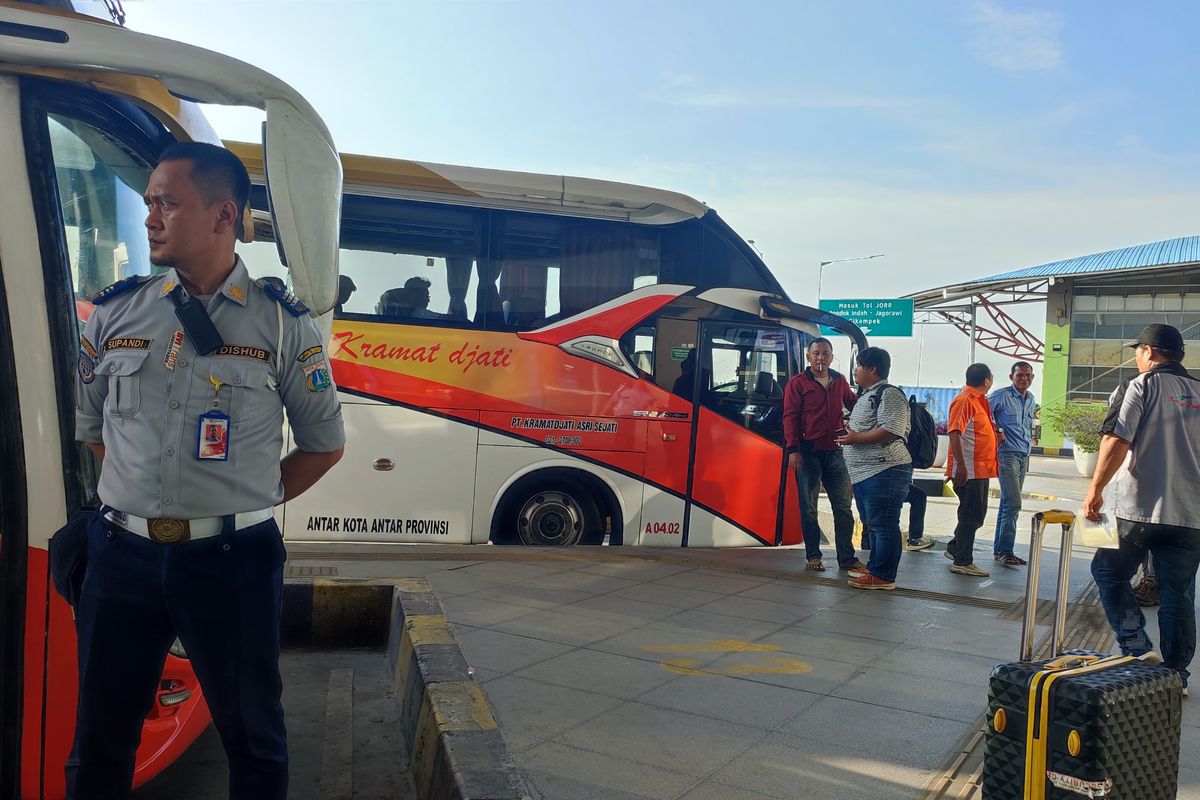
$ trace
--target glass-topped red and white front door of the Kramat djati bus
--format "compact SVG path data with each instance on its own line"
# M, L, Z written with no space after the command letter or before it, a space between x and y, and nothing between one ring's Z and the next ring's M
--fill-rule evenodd
M782 541L784 386L797 368L793 338L774 325L701 324L685 545Z

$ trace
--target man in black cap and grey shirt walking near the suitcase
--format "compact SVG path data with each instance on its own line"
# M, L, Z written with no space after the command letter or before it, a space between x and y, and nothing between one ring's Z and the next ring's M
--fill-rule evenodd
M1183 368L1183 336L1170 325L1147 325L1126 347L1134 348L1138 374L1109 405L1084 500L1085 516L1098 521L1102 493L1114 482L1110 500L1121 542L1117 549L1096 552L1092 576L1121 651L1157 661L1129 587L1142 557L1153 554L1162 660L1180 673L1187 694L1200 566L1200 380Z

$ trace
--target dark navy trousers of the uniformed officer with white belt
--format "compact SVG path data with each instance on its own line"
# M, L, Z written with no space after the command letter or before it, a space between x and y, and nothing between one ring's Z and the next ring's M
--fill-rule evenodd
M280 679L286 552L275 521L158 545L102 517L88 530L77 608L79 708L67 798L127 798L142 722L178 636L229 759L232 800L282 800Z

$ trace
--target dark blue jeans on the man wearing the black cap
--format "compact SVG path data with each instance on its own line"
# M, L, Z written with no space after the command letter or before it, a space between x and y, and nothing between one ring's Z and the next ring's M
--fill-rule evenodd
M1154 555L1158 575L1158 636L1163 645L1163 663L1175 669L1188 684L1188 664L1196 651L1196 567L1200 566L1200 530L1117 519L1121 547L1096 551L1092 577L1100 591L1100 602L1116 631L1121 652L1140 656L1152 650L1146 634L1146 618L1134 599L1129 579L1147 552Z

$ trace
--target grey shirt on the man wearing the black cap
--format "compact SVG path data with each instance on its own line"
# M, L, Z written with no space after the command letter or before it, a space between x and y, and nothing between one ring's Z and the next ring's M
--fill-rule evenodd
M1100 431L1133 445L1112 485L1116 517L1200 529L1200 380L1174 362L1130 378Z

